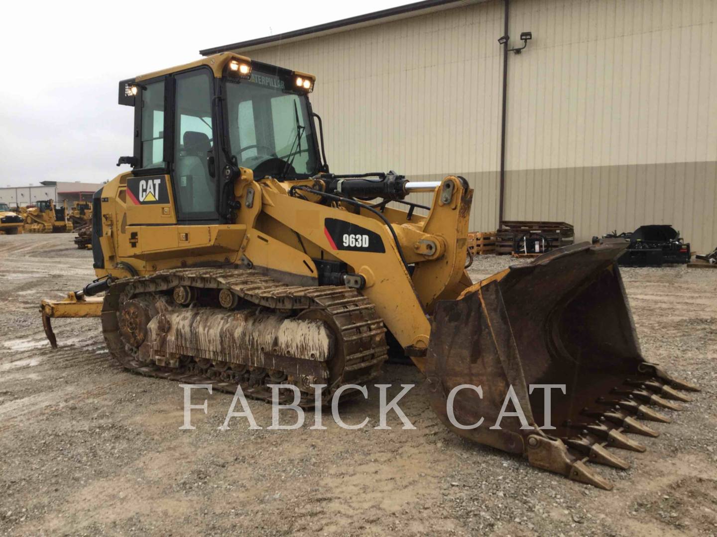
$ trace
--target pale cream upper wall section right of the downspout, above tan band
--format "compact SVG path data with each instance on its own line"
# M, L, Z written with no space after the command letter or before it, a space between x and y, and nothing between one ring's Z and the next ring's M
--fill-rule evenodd
M533 39L508 62L508 168L717 160L716 5L511 2Z

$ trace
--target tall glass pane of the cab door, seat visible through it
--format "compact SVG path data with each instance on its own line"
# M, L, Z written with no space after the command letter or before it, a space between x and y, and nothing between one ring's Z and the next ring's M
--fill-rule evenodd
M212 155L212 77L207 69L176 77L174 192L179 218L217 216L217 181L209 175Z

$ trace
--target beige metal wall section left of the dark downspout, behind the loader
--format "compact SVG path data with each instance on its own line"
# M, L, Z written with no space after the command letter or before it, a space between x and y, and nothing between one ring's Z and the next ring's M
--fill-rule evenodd
M311 101L332 171L463 175L475 188L472 226L490 230L498 219L502 29L503 4L490 1L247 55L316 75Z

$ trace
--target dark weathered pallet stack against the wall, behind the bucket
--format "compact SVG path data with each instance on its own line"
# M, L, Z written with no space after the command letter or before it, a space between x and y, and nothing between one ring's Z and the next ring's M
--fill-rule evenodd
M540 238L541 243L545 243L544 251L551 251L572 244L575 231L573 226L566 222L502 221L496 232L495 253L521 255L521 243L526 236Z

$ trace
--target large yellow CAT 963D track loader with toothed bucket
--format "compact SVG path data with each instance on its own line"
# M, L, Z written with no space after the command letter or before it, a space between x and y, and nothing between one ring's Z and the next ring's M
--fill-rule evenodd
M50 342L52 317L100 316L130 371L259 400L293 384L307 407L376 379L399 349L459 435L610 488L587 463L627 468L607 448L644 450L625 433L657 435L642 420L669 421L655 407L695 390L640 354L615 263L626 243L560 248L473 284L467 182L331 173L314 83L231 53L120 82L135 138L118 165L131 170L92 200L98 279L42 301ZM415 192L433 194L424 214Z

